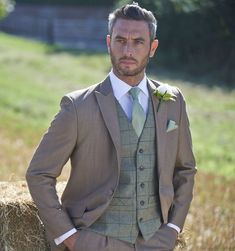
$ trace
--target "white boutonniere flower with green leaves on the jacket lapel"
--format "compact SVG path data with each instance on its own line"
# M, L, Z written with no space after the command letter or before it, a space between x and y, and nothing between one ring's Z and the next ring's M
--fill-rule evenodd
M154 92L153 94L159 99L158 107L157 107L157 112L160 108L161 102L162 101L175 101L176 96L172 91L172 87L168 84L162 84L160 85Z

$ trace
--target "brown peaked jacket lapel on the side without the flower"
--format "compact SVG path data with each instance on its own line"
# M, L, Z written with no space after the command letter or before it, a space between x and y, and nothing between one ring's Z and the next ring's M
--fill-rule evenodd
M97 103L100 107L105 125L117 151L118 166L120 167L120 129L116 110L115 97L109 77L101 84L100 89L95 91Z

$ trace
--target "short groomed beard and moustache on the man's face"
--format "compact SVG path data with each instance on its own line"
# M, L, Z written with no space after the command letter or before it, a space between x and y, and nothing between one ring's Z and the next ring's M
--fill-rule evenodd
M145 70L145 68L149 62L149 55L150 55L150 50L149 50L148 54L142 59L142 61L140 62L140 65L137 66L137 68L130 70L128 68L120 67L118 61L120 59L128 59L128 58L136 61L136 59L133 57L122 57L120 59L117 59L113 55L112 49L110 48L110 59L111 59L114 71L116 71L120 76L125 76L125 77L134 77L134 76L137 76L140 73L142 73Z

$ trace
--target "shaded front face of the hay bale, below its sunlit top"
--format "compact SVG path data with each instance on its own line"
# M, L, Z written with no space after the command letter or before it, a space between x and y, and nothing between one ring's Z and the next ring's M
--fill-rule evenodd
M50 250L38 212L30 201L0 204L1 246L4 251Z

